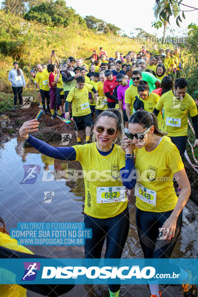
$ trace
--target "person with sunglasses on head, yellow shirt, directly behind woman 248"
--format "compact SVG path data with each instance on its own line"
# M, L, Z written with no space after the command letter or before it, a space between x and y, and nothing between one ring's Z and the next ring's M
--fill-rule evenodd
M152 112L156 103L159 100L159 95L155 93L149 93L149 86L146 81L140 81L138 85L138 96L133 103L134 110L137 111L140 108ZM158 126L161 129L163 126L163 117L161 112L157 115Z

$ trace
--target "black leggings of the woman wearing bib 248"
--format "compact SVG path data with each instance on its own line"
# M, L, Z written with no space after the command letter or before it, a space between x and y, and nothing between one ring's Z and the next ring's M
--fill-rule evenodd
M145 258L170 258L182 228L182 212L177 219L175 236L171 241L160 239L159 228L163 226L171 213L172 210L151 212L136 209L138 236Z

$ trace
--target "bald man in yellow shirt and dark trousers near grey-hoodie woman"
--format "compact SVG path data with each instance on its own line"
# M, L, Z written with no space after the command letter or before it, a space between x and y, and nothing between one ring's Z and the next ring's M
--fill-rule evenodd
M49 72L47 69L44 69L41 64L37 64L37 74L35 76L35 81L36 81L36 86L39 89L41 93L41 98L42 98L42 104L43 104L43 109L44 109L44 114L51 114L50 108L49 108ZM45 105L45 99L47 101L47 110L46 110L46 105Z

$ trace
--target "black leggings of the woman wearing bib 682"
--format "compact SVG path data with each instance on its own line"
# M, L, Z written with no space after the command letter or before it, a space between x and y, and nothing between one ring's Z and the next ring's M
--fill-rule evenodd
M129 233L129 208L107 219L98 219L85 214L85 228L92 228L92 239L85 240L85 258L100 258L106 238L104 258L121 258ZM120 285L108 285L111 292L117 292Z

